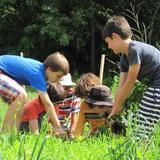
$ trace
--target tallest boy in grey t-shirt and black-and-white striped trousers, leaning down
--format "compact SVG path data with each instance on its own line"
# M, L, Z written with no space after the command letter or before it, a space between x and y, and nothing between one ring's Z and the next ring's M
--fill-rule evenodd
M122 110L136 79L148 87L138 109L138 137L150 135L160 120L160 51L149 44L131 39L132 31L122 16L111 17L102 31L108 48L115 54L122 53L120 60L120 81L115 102L109 117Z

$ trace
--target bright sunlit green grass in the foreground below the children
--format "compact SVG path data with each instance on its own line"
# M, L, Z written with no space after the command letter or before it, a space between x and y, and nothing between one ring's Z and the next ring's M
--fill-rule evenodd
M36 92L28 90L29 99ZM0 101L2 122L7 105ZM16 132L0 135L0 160L159 160L160 128L152 141L137 142L128 129L126 137L110 131L99 137L64 140L41 132L21 135ZM87 134L87 130L86 130Z

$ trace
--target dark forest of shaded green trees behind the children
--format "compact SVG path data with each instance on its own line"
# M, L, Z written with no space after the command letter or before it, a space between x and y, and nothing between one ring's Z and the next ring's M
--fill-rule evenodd
M105 72L113 77L119 57L101 37L106 20L120 14L130 22L134 38L159 46L159 0L1 0L0 54L24 53L40 61L55 51L68 58L71 73Z

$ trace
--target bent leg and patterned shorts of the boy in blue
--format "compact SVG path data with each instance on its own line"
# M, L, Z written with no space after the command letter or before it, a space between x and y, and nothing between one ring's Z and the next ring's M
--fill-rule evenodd
M23 106L27 100L27 93L16 81L4 74L0 74L0 95L9 99L9 107L2 125L2 132L19 127L22 117Z

